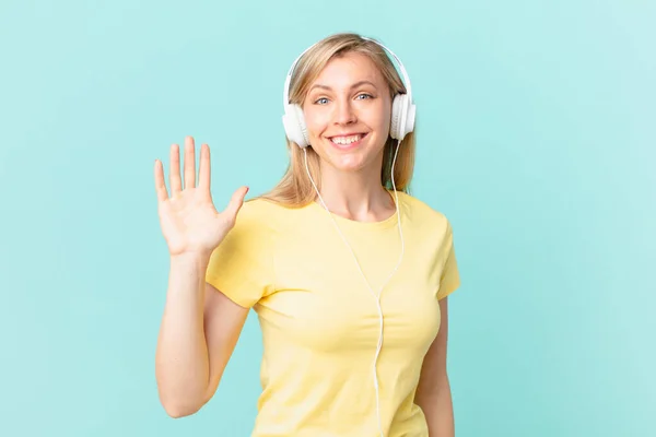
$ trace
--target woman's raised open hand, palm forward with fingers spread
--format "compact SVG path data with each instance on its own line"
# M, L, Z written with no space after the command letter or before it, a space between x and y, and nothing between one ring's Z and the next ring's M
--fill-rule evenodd
M248 187L239 187L223 212L218 212L210 193L210 147L201 145L198 186L194 138L185 139L185 166L180 176L179 146L171 146L171 196L164 181L164 168L155 160L155 190L162 234L171 256L209 255L233 228ZM183 187L183 180L185 182Z

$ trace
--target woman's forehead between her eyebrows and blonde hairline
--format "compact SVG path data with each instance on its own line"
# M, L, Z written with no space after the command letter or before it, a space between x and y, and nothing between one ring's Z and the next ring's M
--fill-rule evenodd
M368 56L349 51L328 61L313 84L339 87L359 81L370 81L379 86L385 85L383 74Z

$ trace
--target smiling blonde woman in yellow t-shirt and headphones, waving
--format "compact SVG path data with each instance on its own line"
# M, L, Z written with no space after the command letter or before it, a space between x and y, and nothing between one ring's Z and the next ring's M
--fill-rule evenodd
M269 193L244 202L242 187L218 213L209 147L196 185L190 138L183 175L172 146L171 196L155 163L171 253L161 402L179 417L212 398L254 308L265 350L253 436L453 436L447 295L459 275L449 222L408 193L409 83L355 34L294 64L291 161Z

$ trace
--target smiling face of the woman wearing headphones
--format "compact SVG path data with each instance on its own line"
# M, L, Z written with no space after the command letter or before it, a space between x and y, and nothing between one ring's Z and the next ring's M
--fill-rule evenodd
M340 170L380 166L389 135L391 98L374 62L348 52L311 84L303 113L312 147Z

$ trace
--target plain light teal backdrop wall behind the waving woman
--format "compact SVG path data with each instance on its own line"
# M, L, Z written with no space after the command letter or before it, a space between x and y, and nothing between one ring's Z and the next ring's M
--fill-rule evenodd
M0 5L0 435L248 436L249 318L198 414L159 404L153 161L213 153L218 208L282 175L292 60L380 38L419 110L414 196L454 225L458 437L656 435L654 2Z

